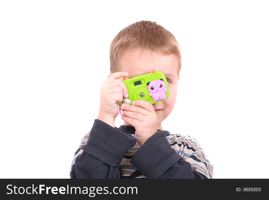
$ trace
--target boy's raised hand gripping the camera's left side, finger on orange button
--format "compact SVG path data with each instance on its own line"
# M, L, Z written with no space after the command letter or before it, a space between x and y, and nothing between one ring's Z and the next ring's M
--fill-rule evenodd
M115 118L118 116L117 105L128 96L126 85L119 79L127 76L125 72L115 72L108 75L107 80L101 86L100 108L98 118L114 127Z

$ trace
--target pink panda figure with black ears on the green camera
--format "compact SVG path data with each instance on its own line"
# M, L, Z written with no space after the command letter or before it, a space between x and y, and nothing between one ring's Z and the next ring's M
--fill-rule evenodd
M154 102L166 100L165 93L167 92L167 89L164 79L148 82L147 89L149 90L149 96L152 96Z

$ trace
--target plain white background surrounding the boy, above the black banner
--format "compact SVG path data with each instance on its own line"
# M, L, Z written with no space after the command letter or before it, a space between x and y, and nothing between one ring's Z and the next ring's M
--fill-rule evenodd
M195 138L214 178L269 178L265 2L1 1L0 177L69 177L98 116L112 39L150 20L182 51L164 130Z

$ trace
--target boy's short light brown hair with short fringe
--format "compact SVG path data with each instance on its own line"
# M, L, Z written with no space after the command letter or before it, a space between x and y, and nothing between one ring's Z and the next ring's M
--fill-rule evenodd
M156 22L140 21L133 23L121 30L112 40L110 45L110 72L120 72L120 58L124 53L134 50L175 55L178 58L177 75L181 69L181 53L177 40Z

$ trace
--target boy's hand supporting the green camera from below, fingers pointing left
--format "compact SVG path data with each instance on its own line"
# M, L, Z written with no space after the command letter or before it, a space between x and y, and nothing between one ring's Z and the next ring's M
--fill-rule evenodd
M122 104L121 107L122 119L135 127L135 138L142 146L158 130L158 117L153 105L148 101L135 100L132 106Z

